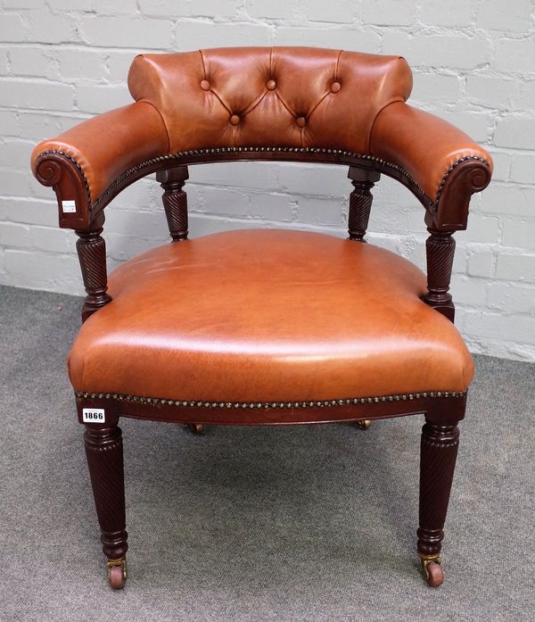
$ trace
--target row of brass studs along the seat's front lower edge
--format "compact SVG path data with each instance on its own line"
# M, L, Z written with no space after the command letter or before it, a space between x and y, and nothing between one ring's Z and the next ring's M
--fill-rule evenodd
M320 400L311 402L202 402L191 400L166 400L159 397L140 397L118 393L84 393L75 391L78 399L90 400L119 400L119 402L137 402L152 406L182 406L204 408L233 408L233 409L260 409L260 408L329 408L333 406L349 406L351 404L372 404L379 402L401 402L418 400L426 397L465 397L467 391L427 391L424 393L382 395L376 397L353 397L344 400Z

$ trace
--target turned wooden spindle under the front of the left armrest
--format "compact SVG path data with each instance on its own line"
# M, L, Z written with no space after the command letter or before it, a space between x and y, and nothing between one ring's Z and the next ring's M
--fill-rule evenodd
M75 229L78 236L76 250L86 287L86 300L82 307L82 322L111 301L106 270L106 243L101 236L104 214L101 212L86 229Z

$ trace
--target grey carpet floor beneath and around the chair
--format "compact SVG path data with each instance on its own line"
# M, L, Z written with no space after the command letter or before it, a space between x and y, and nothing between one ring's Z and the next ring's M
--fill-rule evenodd
M64 369L80 299L0 301L1 620L533 619L535 366L477 358L440 588L416 565L420 418L205 436L124 420L113 593Z

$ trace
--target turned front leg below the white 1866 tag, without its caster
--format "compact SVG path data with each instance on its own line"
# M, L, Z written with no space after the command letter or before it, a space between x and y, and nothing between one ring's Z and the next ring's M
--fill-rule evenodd
M109 561L124 560L128 534L121 431L117 425L91 424L84 439L103 552Z

